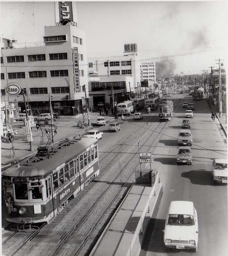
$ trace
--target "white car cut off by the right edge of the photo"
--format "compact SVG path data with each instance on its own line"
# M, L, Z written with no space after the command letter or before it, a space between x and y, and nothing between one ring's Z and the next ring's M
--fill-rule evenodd
M214 184L227 184L227 159L214 159L211 171Z

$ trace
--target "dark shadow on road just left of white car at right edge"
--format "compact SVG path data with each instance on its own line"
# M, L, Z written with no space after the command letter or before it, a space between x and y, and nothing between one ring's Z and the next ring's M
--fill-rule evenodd
M214 185L211 172L204 169L182 172L181 177L189 179L192 184Z

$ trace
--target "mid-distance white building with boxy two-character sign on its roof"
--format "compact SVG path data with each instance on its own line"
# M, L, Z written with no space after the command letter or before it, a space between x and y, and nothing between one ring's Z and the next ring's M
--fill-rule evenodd
M121 95L130 97L139 88L139 55L126 51L123 56L88 58L88 75L90 106L96 106L97 102L112 103L111 88L114 101L118 101Z

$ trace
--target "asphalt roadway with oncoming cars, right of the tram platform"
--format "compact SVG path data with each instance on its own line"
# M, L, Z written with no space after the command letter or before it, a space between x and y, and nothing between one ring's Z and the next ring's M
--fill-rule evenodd
M173 95L192 101L187 94ZM227 186L213 185L211 165L215 158L226 158L226 145L206 100L194 101L191 120L193 135L190 165L176 165L177 135L185 109L176 110L174 118L153 154L152 166L160 169L163 195L157 213L152 216L140 256L192 255L192 251L167 250L163 243L165 218L171 201L192 201L198 213L198 252L194 255L228 255Z

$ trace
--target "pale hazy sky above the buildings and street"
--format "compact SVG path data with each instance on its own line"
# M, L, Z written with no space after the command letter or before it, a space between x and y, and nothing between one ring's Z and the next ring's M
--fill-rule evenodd
M215 59L225 59L226 2L77 2L76 7L88 57L120 56L124 43L137 43L141 60L166 61L179 74L201 73L216 66ZM1 37L42 42L44 26L55 25L54 2L1 2L0 22Z

